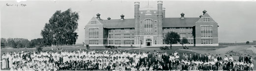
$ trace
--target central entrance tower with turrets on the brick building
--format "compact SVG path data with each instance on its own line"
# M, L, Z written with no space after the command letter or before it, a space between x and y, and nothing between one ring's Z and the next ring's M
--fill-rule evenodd
M140 8L139 2L134 2L134 43L137 46L162 44L162 20L165 8L162 8L162 1L157 1L157 3L158 7L147 5Z

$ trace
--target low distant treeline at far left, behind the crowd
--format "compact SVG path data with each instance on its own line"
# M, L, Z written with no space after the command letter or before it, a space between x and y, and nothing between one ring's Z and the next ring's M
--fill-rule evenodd
M1 48L33 48L33 47L45 47L51 45L47 43L43 38L32 39L31 41L25 38L1 38Z

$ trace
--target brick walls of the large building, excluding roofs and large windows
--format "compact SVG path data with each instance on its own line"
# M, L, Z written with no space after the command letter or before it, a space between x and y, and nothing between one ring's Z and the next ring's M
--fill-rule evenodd
M163 10L164 9L164 10ZM195 26L191 27L169 27L162 28L162 18L165 15L165 8L162 8L162 2L158 1L158 10L139 10L139 3L135 3L134 5L134 28L104 28L103 24L98 20L99 18L92 18L92 20L96 20L97 24L91 24L89 21L85 26L85 43L88 44L90 40L98 40L98 44L89 44L90 46L146 46L148 43L147 39L151 39L151 46L170 46L164 44L162 39L164 34L167 32L177 32L180 34L185 34L185 37L188 40L191 40L191 44L184 44L186 46L218 46L218 23L215 22L207 13L202 18L200 18L197 22L195 22ZM150 14L151 13L151 14ZM203 18L209 18L209 21L205 22ZM145 32L145 19L153 20L152 31ZM178 24L178 23L177 23ZM213 35L212 37L201 37L201 26L212 26L213 27ZM89 38L89 29L90 28L98 28L98 38ZM170 28L176 28L171 30ZM109 32L111 30L120 29L120 32ZM125 29L129 30L128 33L125 32ZM132 32L133 31L133 32ZM116 35L120 35L121 38L116 38ZM125 34L129 34L129 38L125 38ZM133 35L132 35L133 34ZM109 35L112 38L110 38ZM181 37L182 39L182 37ZM202 39L212 39L212 44L201 44ZM112 42L113 43L109 43ZM116 44L115 41L120 40L120 44ZM130 41L130 44L125 44L124 41ZM134 41L134 44L132 44ZM142 43L141 43L142 42ZM189 41L190 42L190 41ZM172 46L182 46L180 43L173 44Z

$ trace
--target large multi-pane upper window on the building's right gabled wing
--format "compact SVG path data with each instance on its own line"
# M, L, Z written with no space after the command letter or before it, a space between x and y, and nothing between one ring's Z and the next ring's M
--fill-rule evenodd
M201 26L201 37L212 37L212 26Z

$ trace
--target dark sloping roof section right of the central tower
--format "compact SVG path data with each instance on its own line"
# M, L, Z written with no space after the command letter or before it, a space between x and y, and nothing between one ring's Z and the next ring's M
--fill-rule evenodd
M193 27L200 18L163 18L162 27Z

